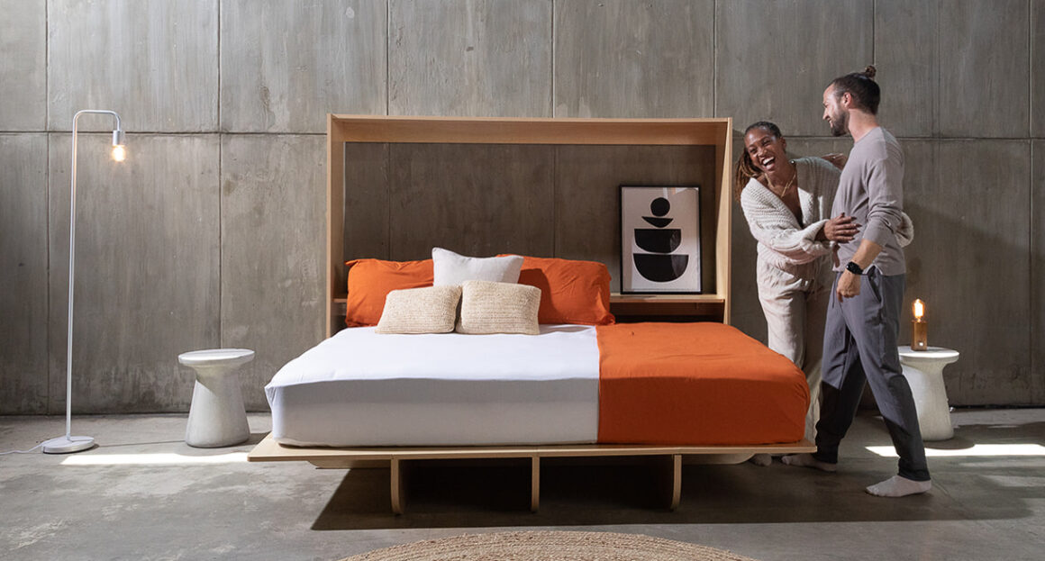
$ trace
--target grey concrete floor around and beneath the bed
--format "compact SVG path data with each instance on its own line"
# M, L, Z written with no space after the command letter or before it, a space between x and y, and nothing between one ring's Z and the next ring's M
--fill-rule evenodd
M248 464L250 444L194 449L184 415L73 419L99 446L0 455L0 558L321 559L462 533L556 529L647 534L771 560L1040 560L1045 551L1045 410L959 410L929 443L931 493L883 499L895 472L882 421L858 417L839 472L688 465L675 512L642 465L547 463L540 512L526 466L426 464L408 513L389 511L388 471ZM260 440L268 415L251 415ZM0 417L0 451L65 431L63 417ZM1009 445L998 448L998 445ZM1022 446L1020 446L1022 445ZM990 455L1000 453L1001 455ZM209 462L209 463L203 463Z

